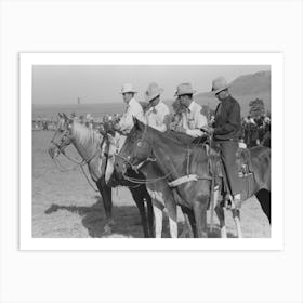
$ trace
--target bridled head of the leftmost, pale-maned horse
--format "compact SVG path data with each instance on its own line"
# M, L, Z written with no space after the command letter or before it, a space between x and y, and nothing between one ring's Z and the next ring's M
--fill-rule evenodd
M65 148L70 144L73 120L64 113L58 113L58 122L56 131L51 140L49 154L52 158L65 153Z

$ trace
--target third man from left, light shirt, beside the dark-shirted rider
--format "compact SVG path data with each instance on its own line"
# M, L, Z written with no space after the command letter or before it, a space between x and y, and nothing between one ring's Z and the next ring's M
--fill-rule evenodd
M195 92L190 83L177 85L175 96L177 96L181 106L185 107L186 110L182 113L181 127L177 127L175 131L198 137L203 135L201 128L207 126L207 118L201 113L202 107L193 100Z

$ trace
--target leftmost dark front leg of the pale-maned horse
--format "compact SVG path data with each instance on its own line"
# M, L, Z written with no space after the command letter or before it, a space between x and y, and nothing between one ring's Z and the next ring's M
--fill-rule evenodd
M111 187L106 185L105 179L102 177L96 182L97 189L101 194L103 206L106 215L106 224L104 226L104 233L110 234L111 228L114 225L111 209L113 209L113 201L111 201Z

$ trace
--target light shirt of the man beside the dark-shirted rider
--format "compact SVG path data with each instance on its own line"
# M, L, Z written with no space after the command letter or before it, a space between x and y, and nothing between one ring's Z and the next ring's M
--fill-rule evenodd
M182 113L182 127L185 130L201 129L208 124L207 117L201 114L201 109L202 107L198 103L192 101L187 110Z

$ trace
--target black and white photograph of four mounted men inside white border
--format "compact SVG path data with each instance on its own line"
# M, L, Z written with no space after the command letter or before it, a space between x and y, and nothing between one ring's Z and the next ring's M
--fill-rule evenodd
M31 65L30 237L271 240L271 61L96 55Z

